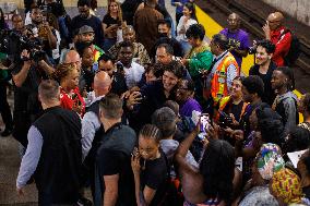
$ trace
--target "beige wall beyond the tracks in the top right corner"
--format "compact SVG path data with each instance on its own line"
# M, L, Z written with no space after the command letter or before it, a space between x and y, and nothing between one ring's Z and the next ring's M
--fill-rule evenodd
M310 26L310 0L263 0Z

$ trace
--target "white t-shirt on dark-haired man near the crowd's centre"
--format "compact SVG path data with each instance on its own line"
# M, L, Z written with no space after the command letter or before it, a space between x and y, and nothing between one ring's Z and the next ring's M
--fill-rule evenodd
M130 68L123 66L126 84L128 88L136 86L141 81L142 74L144 73L144 68L139 63L131 62Z

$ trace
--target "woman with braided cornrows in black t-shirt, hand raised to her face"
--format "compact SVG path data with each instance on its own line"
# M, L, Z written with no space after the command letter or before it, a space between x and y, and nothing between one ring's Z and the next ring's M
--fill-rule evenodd
M131 167L134 175L136 205L159 205L166 194L168 160L160 149L160 130L145 124L139 134L139 148L133 150Z

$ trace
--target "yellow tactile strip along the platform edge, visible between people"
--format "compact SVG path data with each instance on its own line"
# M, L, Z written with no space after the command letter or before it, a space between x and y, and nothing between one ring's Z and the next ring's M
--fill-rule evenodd
M195 14L198 22L202 24L205 28L205 35L207 38L212 38L213 35L219 33L223 27L214 21L211 16L208 16L202 9L195 5ZM247 58L242 60L241 71L245 75L249 75L249 70L253 65L254 56L249 54ZM298 98L301 97L301 94L298 90L294 90ZM302 117L299 114L299 122L302 122Z

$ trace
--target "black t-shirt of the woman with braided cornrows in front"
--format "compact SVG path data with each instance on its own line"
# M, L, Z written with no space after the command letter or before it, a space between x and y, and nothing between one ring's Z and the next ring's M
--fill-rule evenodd
M158 205L166 193L168 169L165 158L165 154L160 150L160 157L158 159L145 161L145 169L142 170L140 174L142 189L147 185L156 190L156 194L150 205Z

